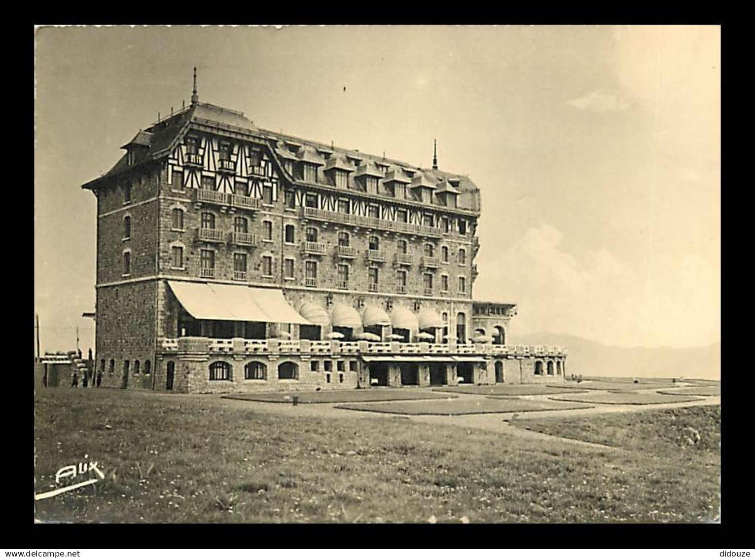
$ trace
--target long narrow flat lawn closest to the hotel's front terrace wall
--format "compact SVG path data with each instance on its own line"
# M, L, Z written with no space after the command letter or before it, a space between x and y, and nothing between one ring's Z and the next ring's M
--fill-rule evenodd
M292 397L297 396L300 403L343 403L362 401L396 401L405 399L448 399L448 395L432 393L427 390L414 390L405 387L391 389L369 390L328 390L328 391L303 391L300 393L234 393L224 396L226 399L242 399L243 401L261 401L269 403L288 403L291 405Z

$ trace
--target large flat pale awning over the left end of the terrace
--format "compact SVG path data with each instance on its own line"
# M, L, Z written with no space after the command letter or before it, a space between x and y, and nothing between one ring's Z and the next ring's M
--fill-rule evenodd
M181 306L196 319L312 325L278 288L168 281Z

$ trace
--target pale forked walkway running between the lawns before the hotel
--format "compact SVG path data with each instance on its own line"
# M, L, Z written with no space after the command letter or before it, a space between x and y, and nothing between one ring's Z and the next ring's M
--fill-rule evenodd
M427 389L427 388L408 388L408 389ZM591 390L591 393L600 393L600 390ZM454 393L459 399L477 399L485 397L471 393ZM518 396L520 399L539 399L547 400L553 394ZM191 397L191 396L190 396ZM206 397L206 396L196 396ZM396 399L394 399L396 400ZM416 399L415 399L416 400ZM513 418L553 418L553 417L587 417L590 415L601 415L604 413L621 413L621 412L643 412L657 408L680 408L695 407L699 405L720 405L720 396L703 397L698 401L684 401L674 403L653 403L649 405L609 405L606 403L592 403L591 408L563 409L560 411L531 411L519 413L485 413L483 415L393 415L390 413L377 413L369 411L355 411L352 409L337 408L336 405L341 403L307 403L302 405L289 405L287 403L270 403L258 401L242 401L239 399L220 399L217 402L222 405L229 405L233 408L245 410L257 410L270 412L277 415L295 416L295 417L328 417L328 418L362 418L370 421L396 420L396 418L408 421L433 424L439 427L456 427L456 428L477 428L500 433L504 436L514 436L519 439L532 439L541 441L545 439L559 440L560 442L578 445L585 449L599 449L601 451L613 450L624 451L610 445L584 442L582 440L563 438L562 436L553 436L532 430L526 430L510 424ZM379 403L379 402L376 402ZM365 404L368 404L365 402Z

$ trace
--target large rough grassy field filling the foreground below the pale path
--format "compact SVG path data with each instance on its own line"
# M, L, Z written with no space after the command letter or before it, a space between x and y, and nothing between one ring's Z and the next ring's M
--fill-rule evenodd
M636 451L614 452L559 439L434 428L388 415L317 418L310 412L304 419L286 409L288 414L251 412L215 396L40 390L35 492L48 490L55 471L85 455L99 462L106 479L36 502L36 517L114 523L695 522L713 518L718 509L716 451L705 460L680 445L655 451L661 427L637 430L631 440ZM627 420L640 415L646 413ZM579 429L600 433L599 420L582 418Z

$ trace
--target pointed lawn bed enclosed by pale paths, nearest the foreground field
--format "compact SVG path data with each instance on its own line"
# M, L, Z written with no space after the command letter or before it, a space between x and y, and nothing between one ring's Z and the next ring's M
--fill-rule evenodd
M527 411L558 411L565 408L590 408L583 403L532 401L530 399L452 399L432 401L394 401L387 403L347 403L337 408L353 411L393 413L394 415L479 415L481 413L511 413Z

